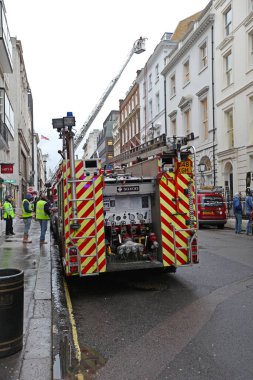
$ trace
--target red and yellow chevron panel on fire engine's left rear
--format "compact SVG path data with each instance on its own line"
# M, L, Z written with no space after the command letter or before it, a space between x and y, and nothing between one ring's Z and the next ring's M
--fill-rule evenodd
M102 176L84 175L83 161L75 162L76 208L80 224L78 230L69 226L73 218L71 202L71 184L64 182L65 238L67 247L75 245L80 253L81 274L92 274L106 270L104 243L104 213L102 197ZM69 164L66 166L66 177L70 178Z

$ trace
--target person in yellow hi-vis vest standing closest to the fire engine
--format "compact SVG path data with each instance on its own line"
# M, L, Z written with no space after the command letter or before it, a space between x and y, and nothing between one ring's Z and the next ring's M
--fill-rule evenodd
M35 212L35 218L40 223L40 244L47 244L46 239L46 232L47 232L47 225L48 221L50 219L51 214L51 206L50 203L46 197L46 195L42 194L40 196L40 200L36 203L36 212Z

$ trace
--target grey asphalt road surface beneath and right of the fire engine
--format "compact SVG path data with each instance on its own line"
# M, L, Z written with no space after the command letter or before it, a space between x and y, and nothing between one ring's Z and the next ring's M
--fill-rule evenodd
M176 274L70 285L87 379L253 379L253 236L203 229L199 243Z

